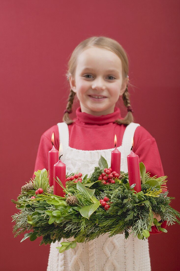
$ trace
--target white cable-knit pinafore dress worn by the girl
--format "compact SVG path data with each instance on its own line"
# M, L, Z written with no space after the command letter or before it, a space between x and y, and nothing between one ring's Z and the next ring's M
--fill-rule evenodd
M68 125L58 123L60 142L63 144L62 162L66 164L66 173L91 173L102 155L110 166L111 151L83 151L69 147ZM123 135L122 146L117 147L121 152L121 171L127 172L127 155L130 153L130 142L138 123L127 125ZM93 140L93 139L92 139ZM63 242L65 239L61 239ZM69 238L68 240L71 240ZM73 240L73 238L72 238ZM56 247L60 242L50 245L47 271L150 271L148 240L139 240L130 235L125 240L124 234L108 237L108 234L86 243L77 243L75 249L59 253Z

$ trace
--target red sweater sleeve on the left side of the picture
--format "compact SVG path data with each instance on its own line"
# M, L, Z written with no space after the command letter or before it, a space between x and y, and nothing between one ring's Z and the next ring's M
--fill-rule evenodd
M52 149L51 137L54 132L54 147L59 149L59 131L58 126L54 125L41 135L40 143L38 146L34 172L41 169L48 170L48 151ZM32 178L34 178L34 172Z

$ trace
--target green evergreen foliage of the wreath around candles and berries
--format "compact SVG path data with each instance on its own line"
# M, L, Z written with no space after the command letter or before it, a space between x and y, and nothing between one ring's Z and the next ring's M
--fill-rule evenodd
M77 243L93 240L104 233L108 233L109 236L123 233L126 239L133 234L144 240L149 237L152 223L159 231L167 232L161 228L162 222L153 218L153 213L161 215L162 221L167 221L168 225L175 222L180 224L180 213L170 206L174 198L168 197L168 191L161 190L167 176L150 177L150 173L145 173L145 166L142 163L140 166L142 191L137 193L134 190L135 185L129 185L128 174L124 172L121 172L123 173L121 180L115 179L115 184L103 185L97 180L103 168L108 167L102 156L99 165L89 178L87 175L82 178L82 183L68 181L64 188L57 179L66 192L65 197L45 192L31 199L30 191L22 191L17 201L12 200L20 210L12 216L12 221L15 222L14 236L31 231L25 233L21 242L27 238L34 241L41 236L40 245L74 237L73 241L61 242L61 247L57 247L59 252L63 253L65 250L75 248ZM33 180L35 188L41 186L43 190L47 189L49 187L47 171L38 171L35 175ZM66 203L69 195L76 196L78 200L76 206ZM99 202L104 196L111 202L107 211Z

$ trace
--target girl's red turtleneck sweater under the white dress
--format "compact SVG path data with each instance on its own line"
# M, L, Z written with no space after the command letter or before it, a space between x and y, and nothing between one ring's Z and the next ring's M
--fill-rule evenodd
M114 112L108 115L93 116L81 112L81 108L76 109L76 118L74 122L68 125L69 146L79 150L103 150L114 147L114 134L117 135L117 146L121 146L124 131L127 125L114 123L115 120L122 119L120 109L115 108ZM54 132L54 146L59 149L59 131L58 126L54 125L45 131L40 139L38 147L34 172L43 168L48 170L48 151L52 149L51 136ZM100 140L100 137L103 140ZM84 140L83 140L84 139ZM146 172L150 176L164 176L162 162L156 140L142 126L135 130L133 151L139 156L139 162L143 162ZM34 174L32 178L34 178ZM164 221L161 227L166 227ZM158 232L155 226L151 233Z

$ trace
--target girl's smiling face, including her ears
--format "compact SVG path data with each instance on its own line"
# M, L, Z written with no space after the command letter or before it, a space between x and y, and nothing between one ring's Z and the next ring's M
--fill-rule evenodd
M84 50L77 58L75 76L69 77L76 92L81 112L106 115L126 89L128 79L122 76L122 62L113 52L99 47Z

